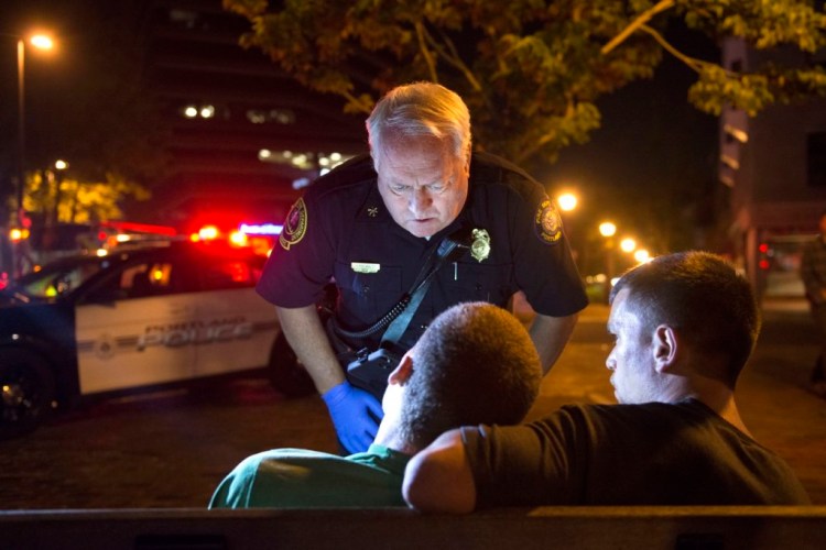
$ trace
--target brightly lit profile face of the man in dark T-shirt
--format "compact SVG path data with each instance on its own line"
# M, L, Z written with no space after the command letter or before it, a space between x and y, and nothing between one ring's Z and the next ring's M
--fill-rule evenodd
M612 373L613 395L624 404L660 400L653 334L629 306L628 294L627 288L617 294L608 317L608 332L613 334L615 343L606 366Z

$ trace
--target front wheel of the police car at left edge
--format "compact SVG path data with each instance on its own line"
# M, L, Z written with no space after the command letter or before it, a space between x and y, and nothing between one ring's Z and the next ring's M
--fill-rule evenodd
M54 392L54 376L40 355L0 350L0 440L34 430L51 411Z

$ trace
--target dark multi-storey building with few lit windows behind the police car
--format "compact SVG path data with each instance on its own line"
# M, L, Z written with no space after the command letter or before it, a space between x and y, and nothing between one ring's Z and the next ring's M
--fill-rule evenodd
M144 221L280 221L320 170L366 151L365 117L308 91L258 50L221 0L152 0L139 32L148 87L170 122L170 169Z

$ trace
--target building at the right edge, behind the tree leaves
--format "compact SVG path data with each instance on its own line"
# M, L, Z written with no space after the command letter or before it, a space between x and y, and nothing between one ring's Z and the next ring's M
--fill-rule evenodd
M722 63L748 72L800 52L756 52L727 38ZM826 61L820 55L819 63ZM757 117L725 109L720 117L719 179L729 189L729 238L735 260L764 297L800 297L800 251L826 210L826 101L775 105Z

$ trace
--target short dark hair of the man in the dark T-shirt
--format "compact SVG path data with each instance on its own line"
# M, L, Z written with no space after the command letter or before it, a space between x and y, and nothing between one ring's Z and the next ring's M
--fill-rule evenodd
M733 265L708 252L666 254L622 275L611 301L622 289L646 330L667 324L700 354L725 358L725 372L704 374L735 388L754 349L760 314L751 285Z

